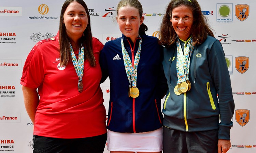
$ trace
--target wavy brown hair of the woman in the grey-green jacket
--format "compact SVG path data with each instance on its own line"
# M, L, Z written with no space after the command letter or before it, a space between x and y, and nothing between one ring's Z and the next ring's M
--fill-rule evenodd
M163 16L160 26L160 44L170 47L175 43L177 34L172 27L170 19L172 16L172 10L182 5L189 7L193 13L191 35L194 45L203 43L208 35L214 37L212 32L213 29L208 25L208 19L202 14L201 7L196 0L171 0L166 8L166 13Z

